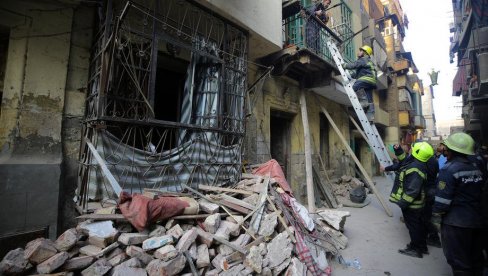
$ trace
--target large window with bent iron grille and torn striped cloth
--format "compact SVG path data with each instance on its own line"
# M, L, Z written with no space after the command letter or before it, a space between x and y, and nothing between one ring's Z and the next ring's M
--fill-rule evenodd
M92 55L81 204L116 197L87 142L128 192L237 183L247 34L186 1L114 15Z

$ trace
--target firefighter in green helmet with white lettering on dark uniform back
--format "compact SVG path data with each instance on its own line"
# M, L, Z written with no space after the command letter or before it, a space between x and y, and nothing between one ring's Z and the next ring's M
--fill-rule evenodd
M441 231L444 255L453 274L482 275L484 179L472 162L474 140L460 132L449 135L443 144L447 162L437 178L432 223Z

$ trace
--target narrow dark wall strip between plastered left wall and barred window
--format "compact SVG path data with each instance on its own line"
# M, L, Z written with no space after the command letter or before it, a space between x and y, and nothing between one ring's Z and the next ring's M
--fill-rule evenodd
M78 154L81 140L81 120L85 114L85 99L93 43L95 10L78 7L74 10L73 32L69 55L66 96L63 112L63 183L60 190L60 232L76 225L73 197L78 180Z

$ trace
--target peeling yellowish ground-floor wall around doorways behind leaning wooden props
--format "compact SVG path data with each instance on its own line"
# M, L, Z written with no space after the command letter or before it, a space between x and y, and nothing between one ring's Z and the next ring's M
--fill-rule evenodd
M252 76L250 76L250 79ZM252 81L251 81L252 83ZM271 77L265 81L263 90L257 92L254 97L252 115L248 118L246 125L246 146L244 160L251 164L263 163L270 159L270 114L271 110L278 110L293 114L290 129L290 183L295 197L301 202L306 202L306 176L305 176L305 143L300 109L300 88L298 84L284 77ZM313 154L320 149L320 114L323 105L332 116L335 124L339 127L344 137L349 141L349 118L343 107L335 102L320 96L314 92L305 91L307 101L308 120L311 133L311 144ZM347 155L344 144L335 133L332 126L329 127L329 172L334 176L351 174L353 167L352 159Z

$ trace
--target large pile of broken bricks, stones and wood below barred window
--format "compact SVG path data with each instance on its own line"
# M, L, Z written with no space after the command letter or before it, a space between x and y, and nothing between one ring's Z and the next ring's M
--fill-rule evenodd
M192 214L148 222L142 231L117 207L80 216L57 240L10 251L0 274L330 275L328 258L347 245L340 230L349 213L308 213L288 184L271 176L245 174L233 188L186 187L197 202L189 204Z

